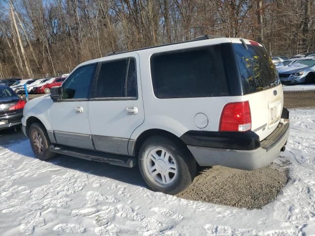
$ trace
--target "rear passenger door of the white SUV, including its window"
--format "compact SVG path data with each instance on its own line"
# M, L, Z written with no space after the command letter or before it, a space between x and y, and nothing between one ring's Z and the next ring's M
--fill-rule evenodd
M95 149L128 154L132 132L144 121L138 55L99 62L89 104Z

